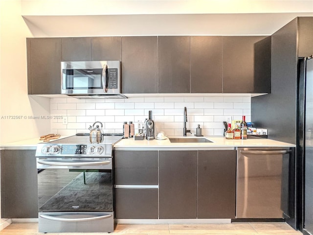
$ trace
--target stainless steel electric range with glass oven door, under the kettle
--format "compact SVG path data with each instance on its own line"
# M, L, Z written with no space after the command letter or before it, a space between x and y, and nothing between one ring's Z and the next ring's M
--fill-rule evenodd
M36 149L39 232L113 232L112 144L73 136Z

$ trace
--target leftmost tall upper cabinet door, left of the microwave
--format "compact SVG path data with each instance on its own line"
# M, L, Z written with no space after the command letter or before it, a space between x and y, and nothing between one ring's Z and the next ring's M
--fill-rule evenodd
M61 39L27 38L28 94L61 94Z

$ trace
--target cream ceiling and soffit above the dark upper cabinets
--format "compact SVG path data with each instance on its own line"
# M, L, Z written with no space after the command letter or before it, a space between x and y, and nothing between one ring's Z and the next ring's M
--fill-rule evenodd
M34 37L271 35L313 0L22 0Z

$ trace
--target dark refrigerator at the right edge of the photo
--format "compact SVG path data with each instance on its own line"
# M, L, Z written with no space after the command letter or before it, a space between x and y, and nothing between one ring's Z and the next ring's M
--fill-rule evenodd
M313 235L313 58L299 59L297 214L304 235Z

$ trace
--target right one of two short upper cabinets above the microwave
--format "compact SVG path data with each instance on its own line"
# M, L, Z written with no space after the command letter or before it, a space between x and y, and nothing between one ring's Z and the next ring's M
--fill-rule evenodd
M122 60L122 37L92 37L91 60Z

